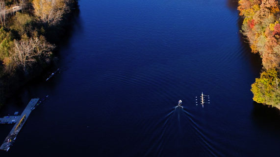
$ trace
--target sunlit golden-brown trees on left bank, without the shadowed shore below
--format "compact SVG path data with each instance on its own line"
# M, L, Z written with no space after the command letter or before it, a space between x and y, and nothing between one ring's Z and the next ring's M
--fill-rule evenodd
M34 63L50 61L54 45L43 35L56 26L75 0L0 0L0 72L26 71ZM33 5L34 11L16 13L5 23L5 10L14 5ZM7 5L7 6L6 6Z

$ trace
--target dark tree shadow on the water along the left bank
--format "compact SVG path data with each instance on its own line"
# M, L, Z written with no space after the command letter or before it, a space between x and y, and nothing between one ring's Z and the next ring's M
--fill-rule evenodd
M79 8L77 8L73 13L71 13L71 15L69 15L70 17L67 20L67 22L69 23L66 24L63 30L64 33L60 37L61 40L56 43L57 49L54 51L54 57L60 57L60 50L69 44L73 32L75 32L76 29L81 28L79 22L79 14L80 11ZM23 87L21 87L19 90L16 90L14 94L11 95L11 97L7 98L5 102L6 105L4 105L0 110L0 116L13 114L15 111L22 111L31 98L42 96L34 94L34 91L32 91L32 87L46 86L46 78L51 74L53 70L56 70L57 67L57 62L53 62L51 66L46 68L41 75L32 80L29 80ZM56 86L56 84L51 80L49 82L51 83L48 84L48 87L54 88ZM47 93L45 94L47 95Z

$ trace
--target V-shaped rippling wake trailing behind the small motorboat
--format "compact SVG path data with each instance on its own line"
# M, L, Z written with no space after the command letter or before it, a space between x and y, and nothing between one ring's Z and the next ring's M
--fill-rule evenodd
M155 135L153 135L149 140L151 145L148 147L148 151L146 151L145 156L161 157L164 153L166 144L169 141L176 141L176 138L186 138L189 136L185 135L188 132L193 132L198 137L198 141L201 142L202 147L204 147L203 151L208 152L207 154L213 157L223 156L217 151L217 149L215 149L214 144L205 134L204 129L199 125L199 123L197 123L195 116L189 112L186 107L181 107L182 106L174 107L173 110L165 114L163 119L161 119L156 125L153 125L150 132L152 131ZM177 130L176 135L170 134L173 130Z

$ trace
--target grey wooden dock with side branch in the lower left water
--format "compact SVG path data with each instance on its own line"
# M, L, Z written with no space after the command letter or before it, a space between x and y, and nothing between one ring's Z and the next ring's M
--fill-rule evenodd
M12 142L16 139L20 130L24 126L26 119L28 118L29 114L34 109L34 107L38 101L39 101L39 98L31 99L30 102L28 103L28 105L26 106L25 110L19 116L8 116L8 117L5 116L6 118L5 117L0 118L1 122L3 122L2 124L10 124L11 122L14 122L13 120L16 121L15 126L13 127L13 129L11 130L11 132L9 133L9 135L6 137L3 144L1 145L0 150L8 151L10 149ZM4 120L4 121L2 121L2 120ZM4 123L4 122L8 122L8 123Z

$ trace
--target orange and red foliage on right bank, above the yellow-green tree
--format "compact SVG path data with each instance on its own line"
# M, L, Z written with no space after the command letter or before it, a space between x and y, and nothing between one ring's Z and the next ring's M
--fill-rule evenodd
M280 57L274 48L280 45L278 0L239 0L238 10L244 16L243 33L253 53L259 52L265 68L279 67ZM259 38L262 36L262 38Z

